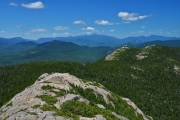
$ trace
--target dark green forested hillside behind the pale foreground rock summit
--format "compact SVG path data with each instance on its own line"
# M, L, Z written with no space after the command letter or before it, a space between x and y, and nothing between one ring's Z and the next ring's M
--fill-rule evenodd
M97 81L128 97L155 120L180 119L180 49L150 46L121 48L112 60L91 64L44 62L0 67L0 106L43 73L70 73Z

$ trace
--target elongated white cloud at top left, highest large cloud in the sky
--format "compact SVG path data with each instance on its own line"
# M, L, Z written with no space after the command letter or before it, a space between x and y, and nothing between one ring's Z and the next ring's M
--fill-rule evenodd
M28 4L21 4L22 7L29 8L29 9L42 9L44 8L44 4L41 1L28 3Z

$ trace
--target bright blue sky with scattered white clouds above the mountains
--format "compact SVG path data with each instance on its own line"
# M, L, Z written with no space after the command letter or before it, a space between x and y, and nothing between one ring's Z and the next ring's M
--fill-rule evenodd
M0 37L180 37L180 0L0 0Z

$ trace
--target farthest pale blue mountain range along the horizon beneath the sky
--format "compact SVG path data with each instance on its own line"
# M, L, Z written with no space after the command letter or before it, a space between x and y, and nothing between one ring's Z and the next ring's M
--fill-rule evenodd
M89 46L89 47L97 47L97 46L116 47L126 43L140 44L154 40L162 40L162 41L180 40L180 38L151 35L147 37L138 36L138 37L127 37L127 38L119 39L107 35L92 34L92 35L69 36L69 37L39 38L38 40L28 40L20 37L8 38L8 39L0 38L0 44L12 45L19 42L27 42L27 41L34 41L37 44L42 44L46 42L51 42L53 40L72 42L81 46Z

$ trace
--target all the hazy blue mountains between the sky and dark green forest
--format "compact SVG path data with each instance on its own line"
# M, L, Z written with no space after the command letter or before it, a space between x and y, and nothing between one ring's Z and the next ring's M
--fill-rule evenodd
M76 37L41 38L36 41L19 37L0 38L0 65L37 61L95 62L124 45L135 48L143 48L149 45L180 47L180 39L155 35L118 39L97 34Z

